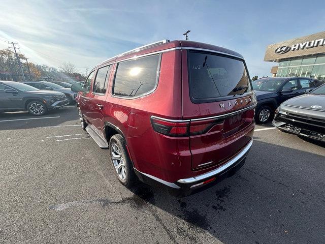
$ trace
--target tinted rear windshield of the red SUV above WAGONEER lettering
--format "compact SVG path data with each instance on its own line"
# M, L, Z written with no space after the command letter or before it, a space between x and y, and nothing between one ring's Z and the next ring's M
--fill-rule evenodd
M250 92L244 62L208 53L189 52L189 84L193 102Z

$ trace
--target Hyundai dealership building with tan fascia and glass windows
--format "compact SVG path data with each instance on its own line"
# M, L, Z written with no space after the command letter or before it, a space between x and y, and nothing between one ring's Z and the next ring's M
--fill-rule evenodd
M264 61L279 63L271 69L273 77L325 80L325 32L271 44Z

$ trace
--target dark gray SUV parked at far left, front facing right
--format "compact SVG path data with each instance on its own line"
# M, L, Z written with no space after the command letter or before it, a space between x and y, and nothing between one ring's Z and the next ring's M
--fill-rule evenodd
M43 115L68 103L63 93L39 90L15 81L0 81L0 112L27 110L32 115Z

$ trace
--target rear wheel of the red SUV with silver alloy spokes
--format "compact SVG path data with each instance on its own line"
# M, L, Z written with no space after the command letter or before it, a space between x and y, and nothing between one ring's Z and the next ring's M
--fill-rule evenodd
M116 134L111 137L109 144L110 144L109 145L110 157L111 157L114 170L116 172L116 176L123 186L125 186L126 188L131 188L134 185L137 176L134 172L131 159L129 158L127 153L126 142L121 135ZM122 158L122 160L120 161L118 161L116 158L115 159L113 158L113 151L114 151L114 155L116 155L116 148L114 149L115 145L118 147L120 157ZM120 163L123 165L123 162L124 162L124 174L122 173L123 166L117 169L115 168L115 166L119 165ZM125 178L123 178L123 176L125 176Z

